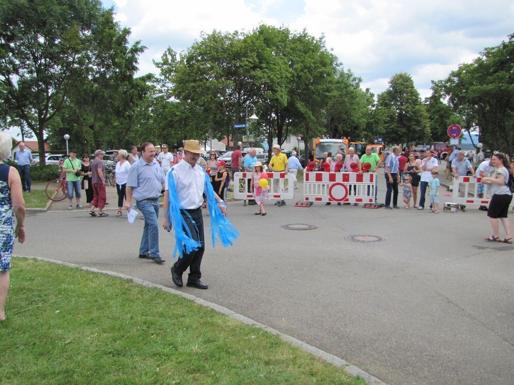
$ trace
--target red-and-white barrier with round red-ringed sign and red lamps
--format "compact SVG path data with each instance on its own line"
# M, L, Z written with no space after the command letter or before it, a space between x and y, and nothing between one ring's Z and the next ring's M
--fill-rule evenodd
M305 172L306 202L374 203L377 175L374 172Z

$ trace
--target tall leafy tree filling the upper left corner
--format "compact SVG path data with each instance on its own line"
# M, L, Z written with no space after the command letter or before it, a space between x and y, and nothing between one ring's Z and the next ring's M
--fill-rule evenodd
M34 132L43 163L45 132L60 130L59 123L84 138L91 136L82 125L89 126L99 146L103 133L112 134L105 128L116 127L113 118L131 119L144 89L133 76L144 48L128 46L130 30L119 27L112 9L97 0L12 0L0 3L0 20L0 96L10 121Z

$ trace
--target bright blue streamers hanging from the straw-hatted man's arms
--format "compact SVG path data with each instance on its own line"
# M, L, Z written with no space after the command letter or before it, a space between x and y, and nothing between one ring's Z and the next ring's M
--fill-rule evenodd
M173 258L179 255L182 258L183 254L189 254L196 251L201 243L192 239L191 231L183 219L180 212L180 203L178 201L177 186L175 178L173 177L173 168L168 172L168 191L169 191L169 215L168 221L171 224L172 229L175 230L175 248L173 250ZM239 232L235 226L225 217L222 210L218 207L216 202L216 195L212 188L210 177L204 172L205 175L205 192L207 196L207 202L209 203L209 214L211 217L211 235L212 235L212 247L214 248L216 240L219 239L223 246L228 247L233 245L233 240L239 237ZM194 223L194 222L193 222ZM184 232L186 229L186 232Z

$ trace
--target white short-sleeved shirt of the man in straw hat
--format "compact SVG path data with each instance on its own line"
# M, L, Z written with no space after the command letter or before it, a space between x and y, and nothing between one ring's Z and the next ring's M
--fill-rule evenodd
M191 210L200 207L204 203L204 169L198 165L191 167L184 159L174 165L172 169L180 208ZM168 190L168 178L166 178L164 190Z

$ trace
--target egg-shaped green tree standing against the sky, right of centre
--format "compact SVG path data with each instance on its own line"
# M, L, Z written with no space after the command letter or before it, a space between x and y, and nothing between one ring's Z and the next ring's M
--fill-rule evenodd
M428 115L409 74L395 74L389 81L388 89L378 95L377 124L386 143L429 139Z

